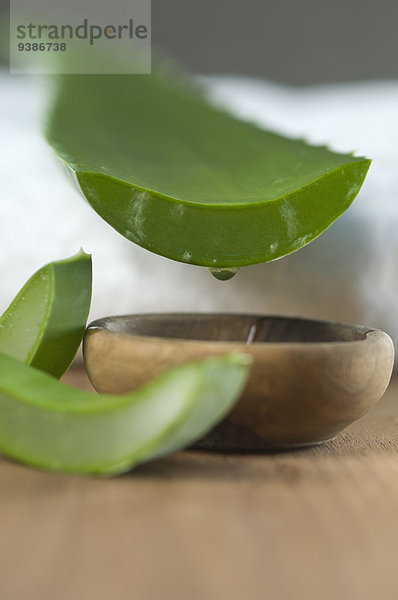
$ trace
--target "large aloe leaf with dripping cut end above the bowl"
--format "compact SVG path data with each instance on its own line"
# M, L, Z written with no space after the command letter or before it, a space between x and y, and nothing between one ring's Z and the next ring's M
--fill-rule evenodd
M117 231L220 277L316 238L350 206L370 165L241 122L162 67L60 76L46 131Z

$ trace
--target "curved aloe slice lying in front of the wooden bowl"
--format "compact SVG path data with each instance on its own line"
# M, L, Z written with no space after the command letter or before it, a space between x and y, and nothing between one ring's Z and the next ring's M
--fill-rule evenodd
M114 396L73 389L0 353L0 450L50 470L126 471L207 433L237 400L249 360L185 364Z

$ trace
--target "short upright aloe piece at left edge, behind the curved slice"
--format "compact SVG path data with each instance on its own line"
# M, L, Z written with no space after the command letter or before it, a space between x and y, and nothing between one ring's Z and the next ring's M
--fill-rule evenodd
M0 318L0 352L60 377L79 347L90 302L90 255L49 263Z

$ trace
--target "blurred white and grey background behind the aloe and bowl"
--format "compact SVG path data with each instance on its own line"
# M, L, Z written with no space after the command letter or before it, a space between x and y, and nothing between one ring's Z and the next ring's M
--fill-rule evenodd
M260 126L373 159L352 208L326 233L225 283L105 224L43 139L40 78L10 76L3 63L0 309L35 269L83 245L94 257L92 318L277 313L381 327L398 341L397 30L394 0L152 0L153 46L206 75L212 101Z

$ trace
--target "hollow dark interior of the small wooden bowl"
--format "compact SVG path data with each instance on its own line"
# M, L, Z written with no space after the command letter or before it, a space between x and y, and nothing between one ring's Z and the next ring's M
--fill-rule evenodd
M147 337L241 343L352 342L365 339L370 331L366 327L291 317L188 313L108 317L90 328Z

